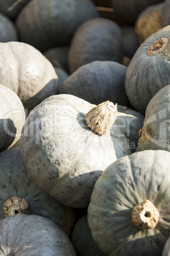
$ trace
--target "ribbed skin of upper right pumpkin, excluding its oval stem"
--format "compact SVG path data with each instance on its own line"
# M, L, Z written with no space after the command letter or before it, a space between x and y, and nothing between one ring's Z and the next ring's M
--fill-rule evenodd
M169 41L166 48L157 55L147 54L152 43L160 38L170 39L170 26L160 29L145 39L134 54L126 72L126 94L134 109L143 114L150 99L170 83Z

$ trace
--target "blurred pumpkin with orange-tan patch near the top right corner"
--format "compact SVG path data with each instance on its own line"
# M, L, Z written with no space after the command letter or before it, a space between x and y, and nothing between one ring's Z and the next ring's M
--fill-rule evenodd
M161 12L163 5L164 3L159 3L148 6L138 16L134 27L140 44L151 34L162 28Z

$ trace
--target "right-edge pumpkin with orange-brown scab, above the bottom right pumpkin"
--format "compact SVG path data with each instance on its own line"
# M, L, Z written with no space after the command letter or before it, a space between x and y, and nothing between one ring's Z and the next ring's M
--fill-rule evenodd
M147 106L136 152L147 149L170 151L169 104L170 85L167 85L155 94Z

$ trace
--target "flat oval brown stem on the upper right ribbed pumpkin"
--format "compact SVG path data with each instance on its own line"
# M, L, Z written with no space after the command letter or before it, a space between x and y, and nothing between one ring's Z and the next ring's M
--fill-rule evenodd
M168 43L167 38L160 38L159 40L152 43L152 45L148 48L147 54L149 56L157 55L158 53L162 52L164 48L166 48Z

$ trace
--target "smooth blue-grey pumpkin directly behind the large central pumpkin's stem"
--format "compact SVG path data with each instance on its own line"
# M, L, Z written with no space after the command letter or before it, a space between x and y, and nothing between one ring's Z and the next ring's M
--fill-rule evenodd
M127 67L114 61L93 61L78 68L60 87L60 94L72 94L92 104L103 101L130 106L124 82Z

